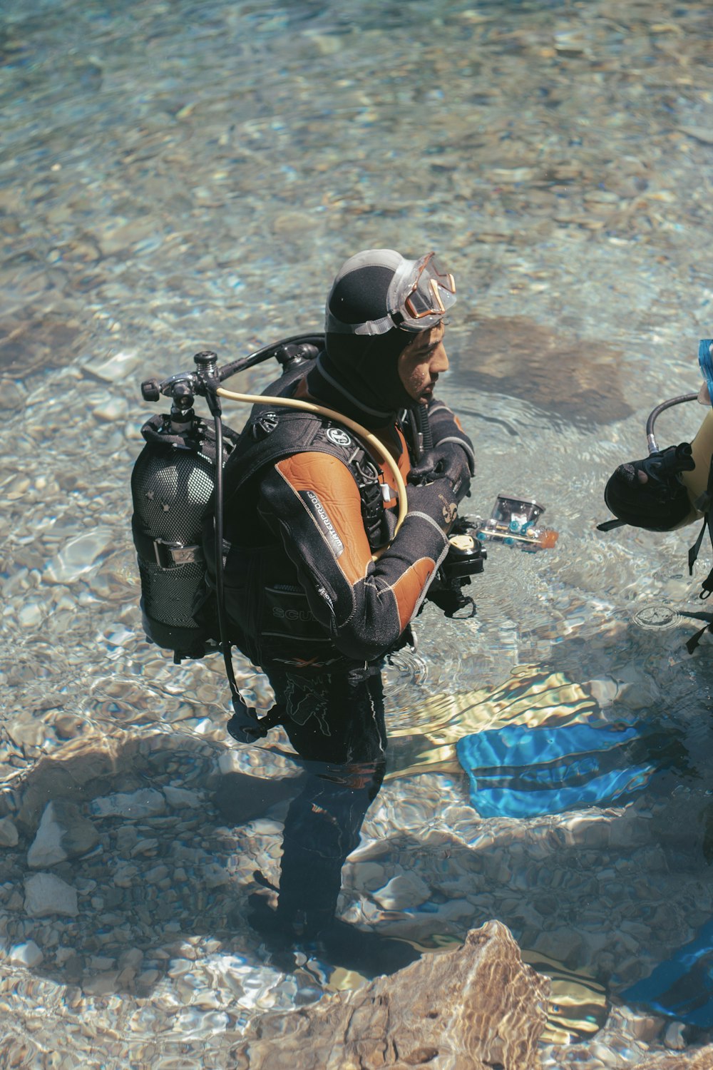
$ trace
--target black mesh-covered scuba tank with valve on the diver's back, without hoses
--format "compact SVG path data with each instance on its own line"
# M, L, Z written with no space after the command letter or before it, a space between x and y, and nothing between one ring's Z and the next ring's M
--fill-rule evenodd
M212 363L215 367L214 354L198 353L193 360L199 374L211 371ZM217 649L219 640L202 546L213 510L216 435L193 412L195 385L179 376L166 384L141 384L145 401L165 393L173 403L170 415L152 416L141 428L146 444L131 473L143 627L151 642L174 652L176 662ZM237 441L224 425L223 434L222 464Z

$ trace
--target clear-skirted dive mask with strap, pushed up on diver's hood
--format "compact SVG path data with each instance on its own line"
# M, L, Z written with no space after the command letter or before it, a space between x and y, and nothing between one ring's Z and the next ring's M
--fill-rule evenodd
M354 261L358 258L355 257ZM386 295L387 315L366 323L344 323L328 315L327 331L335 334L383 335L393 327L417 334L435 326L455 304L455 280L444 272L435 253L420 260L401 259Z

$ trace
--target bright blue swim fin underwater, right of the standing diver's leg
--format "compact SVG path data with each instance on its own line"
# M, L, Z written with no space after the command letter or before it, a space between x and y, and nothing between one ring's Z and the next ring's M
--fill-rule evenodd
M654 771L631 762L642 733L609 723L507 724L464 736L459 762L470 801L483 817L533 817L631 797Z

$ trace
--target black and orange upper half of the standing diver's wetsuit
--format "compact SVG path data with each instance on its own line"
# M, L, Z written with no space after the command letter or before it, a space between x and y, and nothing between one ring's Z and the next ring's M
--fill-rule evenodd
M288 374L266 393L295 387ZM430 408L434 443L455 438L471 456L451 411L438 401ZM373 433L405 480L402 427ZM397 647L448 550L454 503L441 484L408 489L404 522L374 561L373 510L383 513L382 545L397 515L388 465L331 421L255 406L226 467L226 609L236 644L266 670L353 669Z

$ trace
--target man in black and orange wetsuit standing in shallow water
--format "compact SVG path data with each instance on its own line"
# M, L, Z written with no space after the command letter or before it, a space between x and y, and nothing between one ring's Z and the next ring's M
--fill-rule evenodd
M234 644L275 692L273 709L258 717L229 671L230 734L251 743L279 724L306 771L284 822L279 889L272 889L277 905L274 896L253 893L250 921L268 943L317 943L332 961L362 972L388 973L416 957L410 945L370 943L375 934L336 919L342 865L385 771L381 669L413 642L410 622L424 599L449 616L472 605L460 588L485 556L476 540L463 570L456 567L455 578L446 570L449 536L463 523L458 506L475 473L469 438L434 397L448 369L444 317L454 302L453 276L432 253L412 260L368 249L351 257L329 291L324 337L310 339L316 346L283 346L276 354L283 373L264 396L250 398L255 403L239 438L231 434L226 450L217 440L213 445L214 457L228 454L203 534L217 598L191 610L190 623L202 622L223 654ZM207 367L208 356L215 354L198 354L197 364ZM210 373L217 381L215 362ZM179 378L160 387L169 393L169 384L172 412L183 406L176 418L187 422L192 411L177 397ZM145 387L144 397L157 399L158 386ZM215 396L206 397L215 406ZM153 430L144 426L150 445L154 431L166 441L171 427L188 426L157 421ZM211 447L203 434L202 453ZM145 490L146 478L133 476L146 633L176 652L183 643L182 656L201 656L202 642L190 639L185 648L191 629L173 627L177 617L168 630L155 620L156 606L171 599L160 592L151 598L151 583L170 579L172 564L188 567L188 550L196 560L201 554L183 539L170 544L175 549L166 560L169 536L156 538L156 524L171 510L154 509L158 495ZM195 488L199 480L179 483ZM211 610L216 600L220 628Z

